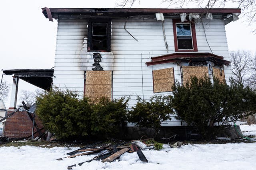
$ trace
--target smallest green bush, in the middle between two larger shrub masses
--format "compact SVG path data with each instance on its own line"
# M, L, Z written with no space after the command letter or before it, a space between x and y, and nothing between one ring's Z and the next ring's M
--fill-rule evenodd
M172 96L153 96L149 102L137 98L137 104L129 111L129 121L140 127L159 129L161 123L173 114Z

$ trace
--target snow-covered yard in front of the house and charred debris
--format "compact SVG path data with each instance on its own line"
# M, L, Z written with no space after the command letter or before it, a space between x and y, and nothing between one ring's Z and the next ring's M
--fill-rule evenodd
M256 133L256 125L241 127ZM244 133L244 135L246 135ZM0 147L1 170L66 170L67 166L92 159L95 155L61 158L75 147ZM256 143L182 145L178 149L164 145L162 150L143 150L148 163L136 152L125 153L115 162L92 161L73 170L255 170Z

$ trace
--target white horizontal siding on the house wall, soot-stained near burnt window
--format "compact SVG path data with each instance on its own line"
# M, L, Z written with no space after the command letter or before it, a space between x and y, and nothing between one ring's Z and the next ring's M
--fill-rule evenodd
M113 98L130 96L130 107L136 104L139 95L148 100L153 92L152 70L174 67L175 80L180 81L180 66L173 63L146 66L150 57L166 55L162 23L156 19L112 19L111 22L111 52L100 52L104 70L113 70ZM174 51L174 36L172 19L165 19L166 40L169 53ZM54 86L78 90L81 96L84 91L84 71L92 70L92 53L87 52L87 25L86 19L64 19L59 17L56 41L56 56L54 64ZM198 52L211 53L206 43L202 24L196 20L196 39ZM223 20L214 19L205 21L205 32L208 43L215 55L230 60ZM142 66L141 66L141 57ZM142 73L142 70L143 73ZM142 74L143 89L142 92ZM226 80L230 76L230 66L225 68ZM157 93L170 94L170 92ZM180 125L174 117L167 125ZM166 125L166 124L165 124Z

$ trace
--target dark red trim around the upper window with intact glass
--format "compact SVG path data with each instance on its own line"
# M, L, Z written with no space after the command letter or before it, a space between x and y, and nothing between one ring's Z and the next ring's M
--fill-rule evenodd
M172 19L172 27L173 27L173 35L174 35L174 48L175 51L185 52L185 51L197 51L197 43L196 43L196 27L194 22L184 21L183 23L191 23L191 32L192 32L192 41L193 41L193 50L179 50L178 49L178 40L177 40L177 31L176 31L176 23L182 23L180 19Z

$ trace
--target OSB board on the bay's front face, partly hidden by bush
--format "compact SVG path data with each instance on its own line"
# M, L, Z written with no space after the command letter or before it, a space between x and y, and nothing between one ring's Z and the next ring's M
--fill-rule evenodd
M186 85L193 76L204 78L205 75L208 76L207 66L182 66L183 85Z

